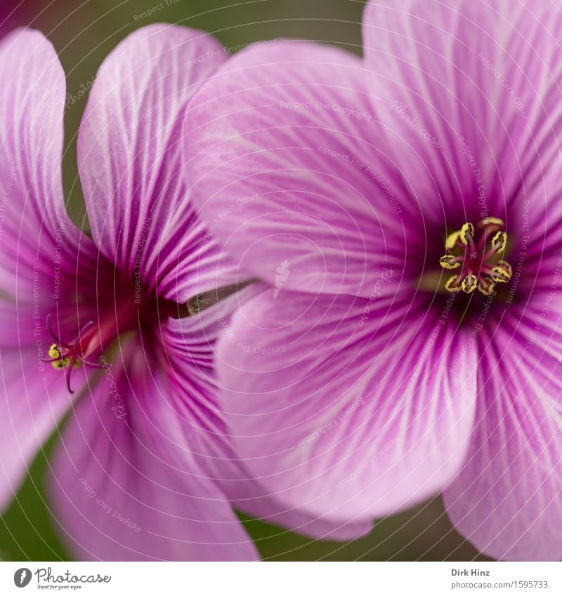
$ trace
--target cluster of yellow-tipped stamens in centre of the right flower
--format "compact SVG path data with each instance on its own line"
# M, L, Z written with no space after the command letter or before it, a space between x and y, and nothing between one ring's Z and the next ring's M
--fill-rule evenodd
M511 279L511 265L504 260L507 234L499 218L485 218L474 227L465 223L445 240L447 253L439 259L443 269L459 270L445 282L450 292L472 293L475 289L490 296L495 284Z

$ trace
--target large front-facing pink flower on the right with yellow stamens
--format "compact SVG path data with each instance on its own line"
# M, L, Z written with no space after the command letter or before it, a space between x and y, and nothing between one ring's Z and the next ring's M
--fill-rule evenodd
M268 284L218 343L224 407L291 506L443 491L486 554L562 558L561 25L551 2L372 1L363 60L277 41L192 100L192 197L207 220L253 197L215 233Z

